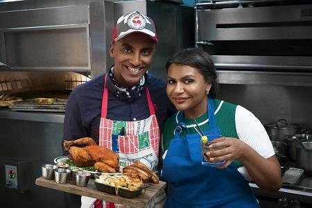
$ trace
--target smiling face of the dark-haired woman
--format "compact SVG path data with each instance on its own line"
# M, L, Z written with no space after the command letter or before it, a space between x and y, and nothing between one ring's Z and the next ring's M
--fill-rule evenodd
M187 65L171 64L167 74L167 95L177 110L193 119L207 111L207 83L198 69Z

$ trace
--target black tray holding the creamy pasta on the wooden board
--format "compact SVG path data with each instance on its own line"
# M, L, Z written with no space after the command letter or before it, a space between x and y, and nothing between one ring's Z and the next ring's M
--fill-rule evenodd
M139 196L143 190L145 191L146 188L148 187L148 184L144 184L144 186L137 189L137 191L129 191L127 189L121 189L121 188L118 189L116 187L107 186L105 184L101 184L96 181L94 181L94 183L96 184L96 189L98 189L98 191L112 193L116 196L122 196L125 198L135 198Z

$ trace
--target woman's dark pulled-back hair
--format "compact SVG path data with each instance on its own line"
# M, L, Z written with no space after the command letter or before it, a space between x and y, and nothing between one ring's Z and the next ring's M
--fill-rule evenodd
M173 54L171 59L166 62L167 73L171 64L187 65L198 69L202 76L204 76L205 81L211 83L209 97L216 98L218 93L216 67L208 53L197 48L183 49Z

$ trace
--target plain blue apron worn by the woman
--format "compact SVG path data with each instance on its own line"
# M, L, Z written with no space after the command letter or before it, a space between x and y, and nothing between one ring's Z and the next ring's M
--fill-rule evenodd
M214 101L208 103L209 131L204 134L217 133ZM181 130L187 130L183 114L178 121L162 170L168 182L166 207L259 207L248 181L235 166L218 169L201 164L200 136L181 137Z

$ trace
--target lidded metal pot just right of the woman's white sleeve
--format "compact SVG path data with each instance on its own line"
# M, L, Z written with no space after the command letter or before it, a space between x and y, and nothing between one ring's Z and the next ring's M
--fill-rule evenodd
M301 125L288 123L286 119L279 119L276 123L266 123L264 128L266 128L271 141L284 141L287 136L297 135L304 131Z

